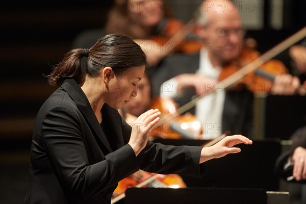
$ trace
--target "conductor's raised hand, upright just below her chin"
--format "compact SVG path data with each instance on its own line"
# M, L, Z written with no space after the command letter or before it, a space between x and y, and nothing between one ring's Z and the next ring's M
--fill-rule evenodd
M161 112L158 109L151 109L141 114L134 122L129 144L133 148L135 155L145 147L152 127L160 120Z

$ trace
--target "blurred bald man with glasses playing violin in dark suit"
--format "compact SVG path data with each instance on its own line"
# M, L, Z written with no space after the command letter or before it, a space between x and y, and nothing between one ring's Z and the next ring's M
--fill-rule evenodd
M227 9L229 4L233 9ZM227 6L224 8L220 5ZM195 55L175 53L166 57L152 81L154 90L160 87L160 92L155 94L176 98L180 105L190 101L194 93L199 96L209 89L226 87L224 84L214 87L222 69L229 65L243 67L251 62L242 58L243 48L246 47L250 55L256 52L248 49L251 45L245 45L245 32L233 2L204 1L197 22L196 33L205 41L200 52ZM281 62L277 64L286 70ZM299 87L299 80L289 74L280 74L273 84L264 86L270 86L270 93L273 94L294 94ZM190 89L194 91L193 94L186 94L192 93ZM197 101L194 112L204 125L203 139L213 139L226 130L252 137L252 101L253 93L245 88L218 91Z

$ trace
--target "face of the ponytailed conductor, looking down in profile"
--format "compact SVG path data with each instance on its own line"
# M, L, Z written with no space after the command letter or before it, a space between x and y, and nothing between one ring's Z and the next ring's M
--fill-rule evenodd
M143 77L144 69L144 65L132 67L111 79L106 103L114 109L120 109L136 97L137 85Z

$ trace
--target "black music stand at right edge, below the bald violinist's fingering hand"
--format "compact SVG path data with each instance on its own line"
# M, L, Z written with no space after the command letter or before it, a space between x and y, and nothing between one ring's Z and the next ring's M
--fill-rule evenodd
M257 138L288 140L306 124L306 96L257 95L254 130Z

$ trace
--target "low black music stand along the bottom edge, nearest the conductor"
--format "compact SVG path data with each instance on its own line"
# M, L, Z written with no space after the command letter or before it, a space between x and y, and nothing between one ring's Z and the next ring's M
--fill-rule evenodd
M124 204L266 204L262 189L234 188L129 188Z

